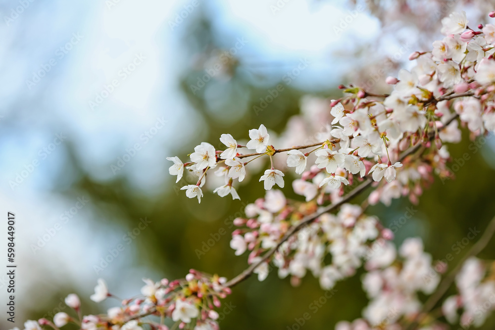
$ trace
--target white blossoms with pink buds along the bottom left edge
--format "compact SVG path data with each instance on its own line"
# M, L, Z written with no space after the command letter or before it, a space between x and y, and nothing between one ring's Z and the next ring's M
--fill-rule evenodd
M74 309L76 317L59 312L54 315L53 322L47 319L27 321L24 324L25 330L41 330L42 326L59 330L69 323L76 324L82 330L144 330L145 325L153 330L169 329L162 322L144 319L148 315L159 316L162 320L172 319L175 322L173 329L177 327L190 330L219 329L216 321L219 314L215 311L215 307L220 307L220 299L231 293L230 288L223 285L226 283L225 278L190 270L182 280L170 282L162 279L156 283L150 279L143 281L146 285L141 288L140 296L121 300L121 306L112 307L103 315L82 317L79 297L73 293L69 294L65 298L65 303ZM99 279L91 300L101 302L108 297L118 299L108 291L105 281Z

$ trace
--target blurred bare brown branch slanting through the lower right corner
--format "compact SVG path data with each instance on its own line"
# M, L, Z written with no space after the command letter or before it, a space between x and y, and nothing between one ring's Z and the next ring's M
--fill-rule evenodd
M450 285L454 282L455 276L460 272L464 262L481 251L487 246L492 237L495 234L495 217L488 224L485 233L483 236L473 245L473 247L466 253L466 255L461 259L461 261L455 266L455 268L447 275L442 283L438 286L437 290L430 296L430 298L424 304L420 313L416 314L414 319L411 321L406 330L415 329L421 321L427 316L428 312L430 312L433 307L438 303L438 301L444 296Z

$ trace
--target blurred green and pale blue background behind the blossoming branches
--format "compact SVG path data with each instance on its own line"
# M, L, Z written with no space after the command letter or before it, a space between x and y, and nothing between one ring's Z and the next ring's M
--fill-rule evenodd
M206 192L198 205L179 191L195 179L175 184L165 158L186 161L200 141L220 147L222 133L242 141L261 123L277 146L304 141L324 128L340 83L387 92L381 80L441 38L440 19L459 8L476 24L493 10L464 0L1 1L0 236L6 242L6 212L14 212L15 326L64 310L60 298L71 292L85 314L104 311L116 301L89 300L98 278L130 297L143 277L240 273L247 256L230 249L230 223L262 185L242 185L242 201ZM279 84L283 91L267 98ZM495 215L495 139L473 147L465 131L463 138L450 148L455 180L433 183L395 237L422 237L435 259L453 253L449 268L474 242L459 254L452 245ZM411 205L401 199L369 212L391 226ZM136 230L140 223L147 226ZM216 235L222 229L228 234ZM198 257L212 237L219 239ZM102 262L118 244L124 250ZM495 258L494 247L481 256ZM311 304L324 292L316 279L292 287L275 273L235 288L222 329L296 329L306 312L303 328L333 329L367 303L360 273L317 312ZM0 275L1 305L6 280ZM5 319L0 328L11 328ZM491 317L483 329L494 326Z

